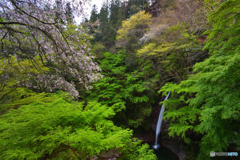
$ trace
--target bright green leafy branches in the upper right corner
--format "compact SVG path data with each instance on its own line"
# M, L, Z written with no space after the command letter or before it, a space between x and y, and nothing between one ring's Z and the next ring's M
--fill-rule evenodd
M215 54L215 51L219 48L228 52L235 49L239 51L239 47L236 47L240 38L239 9L240 4L237 0L228 0L210 13L208 21L213 22L213 29L206 32L209 41L207 41L204 49L210 49L211 54ZM224 52L218 51L217 53Z

